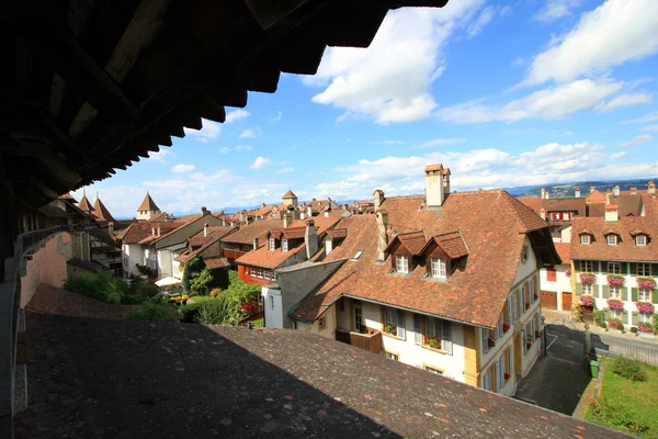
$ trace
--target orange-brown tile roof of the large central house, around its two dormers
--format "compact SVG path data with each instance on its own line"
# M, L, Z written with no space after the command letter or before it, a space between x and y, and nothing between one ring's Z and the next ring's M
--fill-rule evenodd
M432 236L453 233L446 235L453 239L460 232L468 257L449 282L426 279L426 269L420 266L407 277L387 274L390 264L376 263L375 217L355 215L337 225L347 228L348 238L324 259L348 260L292 315L314 320L340 296L349 295L495 327L514 284L525 234L547 224L506 191L452 193L440 211L420 210L422 202L423 196L388 198L382 209L388 212L394 230L422 229ZM548 236L543 239L543 245L552 243ZM363 250L361 257L351 260L359 250Z

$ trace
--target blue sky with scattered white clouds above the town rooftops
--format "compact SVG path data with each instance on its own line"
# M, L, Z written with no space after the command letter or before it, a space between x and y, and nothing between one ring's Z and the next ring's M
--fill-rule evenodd
M451 0L389 11L368 48L327 48L224 124L88 187L116 217L162 211L655 177L658 0ZM78 199L82 190L73 193Z

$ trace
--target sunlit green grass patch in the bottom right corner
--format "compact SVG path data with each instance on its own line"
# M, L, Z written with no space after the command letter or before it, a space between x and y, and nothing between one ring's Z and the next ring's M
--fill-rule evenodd
M615 360L601 362L601 398L590 402L585 420L640 438L658 437L658 368L643 364L646 381L629 381L614 373Z

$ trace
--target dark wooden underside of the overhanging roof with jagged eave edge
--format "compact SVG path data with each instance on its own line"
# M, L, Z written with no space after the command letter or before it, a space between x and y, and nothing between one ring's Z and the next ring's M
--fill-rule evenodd
M447 0L22 0L0 12L0 167L39 206L224 122L389 9Z

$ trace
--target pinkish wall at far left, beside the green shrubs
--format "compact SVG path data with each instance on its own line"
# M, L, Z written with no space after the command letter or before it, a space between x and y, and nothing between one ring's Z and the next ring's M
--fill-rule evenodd
M21 278L21 307L30 302L39 283L61 286L67 278L66 262L71 258L71 236L61 233L52 237L27 260Z

